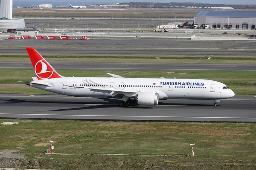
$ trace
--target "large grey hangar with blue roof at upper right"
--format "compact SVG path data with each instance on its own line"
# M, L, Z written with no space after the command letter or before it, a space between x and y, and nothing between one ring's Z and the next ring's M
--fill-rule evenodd
M255 11L198 11L194 26L208 25L209 28L253 29L256 25ZM195 28L195 27L194 27Z

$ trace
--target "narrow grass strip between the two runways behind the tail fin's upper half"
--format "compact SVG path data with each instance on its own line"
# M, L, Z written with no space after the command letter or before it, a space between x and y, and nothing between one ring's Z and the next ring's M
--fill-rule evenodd
M255 56L218 55L43 55L48 62L115 62L115 63L180 63L180 64L256 64ZM211 59L207 59L211 57ZM0 55L0 62L30 62L26 55Z

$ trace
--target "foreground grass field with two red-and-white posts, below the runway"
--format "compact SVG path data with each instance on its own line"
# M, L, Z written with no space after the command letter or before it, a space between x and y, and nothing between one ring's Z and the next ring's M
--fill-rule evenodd
M20 149L20 154L30 160L26 168L205 170L256 167L254 124L0 119L0 122L12 121L20 124L0 125L0 134L5 136L0 139L0 150ZM44 155L41 152L49 148L49 139L55 141L55 153L148 156ZM195 157L186 157L191 152L189 143L194 142ZM18 167L24 168L23 164Z

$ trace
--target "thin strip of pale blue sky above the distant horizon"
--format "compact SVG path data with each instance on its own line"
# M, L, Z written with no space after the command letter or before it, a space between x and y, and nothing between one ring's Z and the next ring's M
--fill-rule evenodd
M39 4L52 4L53 6L59 5L88 5L88 4L104 4L104 3L124 3L124 2L158 2L158 3L170 3L170 2L196 2L196 3L225 3L225 4L256 4L256 0L13 0L13 6L35 5Z

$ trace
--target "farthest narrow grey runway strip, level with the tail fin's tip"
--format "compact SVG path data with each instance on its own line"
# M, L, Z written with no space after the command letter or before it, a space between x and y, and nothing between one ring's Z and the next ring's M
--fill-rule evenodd
M209 55L255 55L253 50L187 50L187 49L91 49L91 48L50 48L39 49L39 53L52 54L209 54ZM27 53L26 48L0 48L0 53Z

